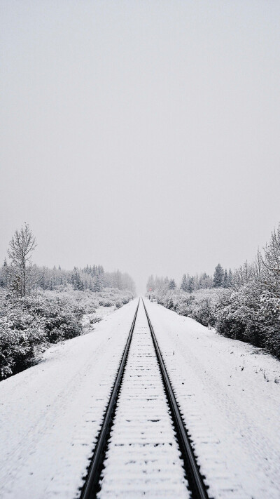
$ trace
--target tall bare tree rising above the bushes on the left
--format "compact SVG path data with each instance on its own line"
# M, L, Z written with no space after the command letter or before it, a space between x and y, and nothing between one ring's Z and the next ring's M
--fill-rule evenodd
M20 231L16 230L8 248L10 258L9 286L19 296L25 296L32 287L31 253L36 248L36 239L29 225L25 223Z

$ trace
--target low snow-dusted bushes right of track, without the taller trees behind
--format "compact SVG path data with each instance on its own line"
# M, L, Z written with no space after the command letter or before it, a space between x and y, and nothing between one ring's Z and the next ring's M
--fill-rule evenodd
M206 288L194 293L155 290L155 299L178 314L218 333L265 348L280 359L280 298L249 279L235 288Z

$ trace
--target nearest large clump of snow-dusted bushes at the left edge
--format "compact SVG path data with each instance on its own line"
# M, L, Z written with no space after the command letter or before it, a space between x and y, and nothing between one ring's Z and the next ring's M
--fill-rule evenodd
M1 293L0 379L34 364L49 343L82 332L83 309L66 300L37 296L13 298Z

